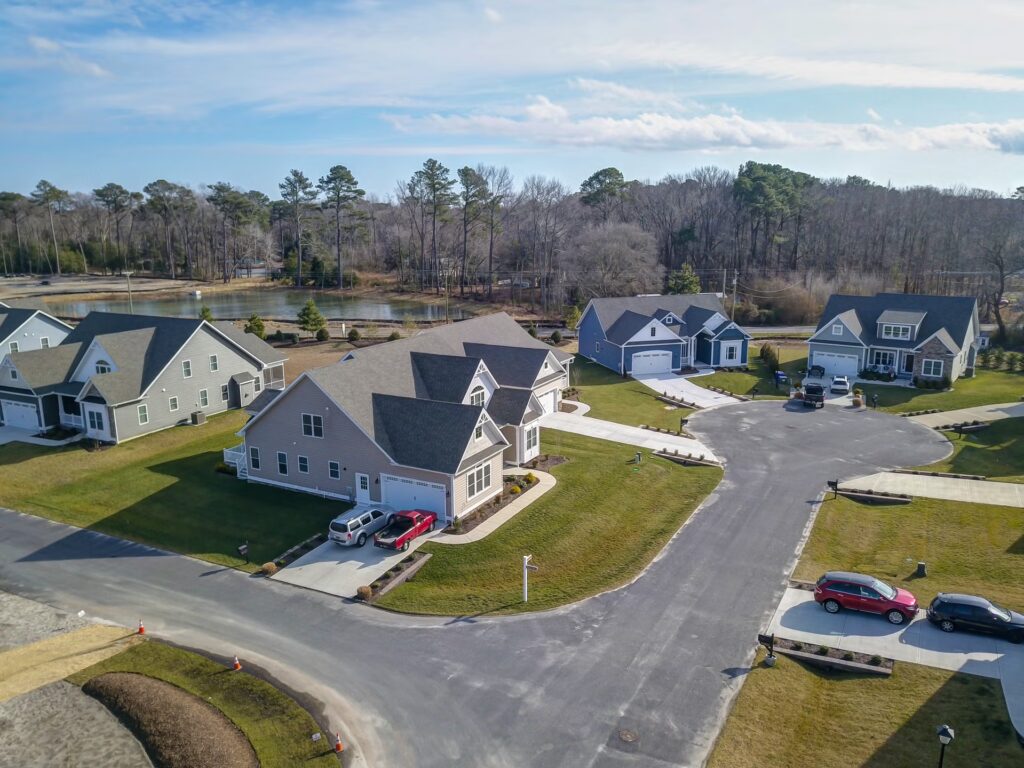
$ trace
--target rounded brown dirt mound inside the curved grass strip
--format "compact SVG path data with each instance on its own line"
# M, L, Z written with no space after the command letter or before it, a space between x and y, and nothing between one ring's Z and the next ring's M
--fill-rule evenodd
M252 744L230 720L170 683L109 672L82 690L128 726L158 768L259 768Z

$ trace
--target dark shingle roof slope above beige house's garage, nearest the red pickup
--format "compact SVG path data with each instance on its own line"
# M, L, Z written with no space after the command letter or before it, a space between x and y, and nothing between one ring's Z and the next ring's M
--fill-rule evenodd
M483 409L374 394L374 432L388 456L408 467L454 474ZM501 449L498 449L501 450Z

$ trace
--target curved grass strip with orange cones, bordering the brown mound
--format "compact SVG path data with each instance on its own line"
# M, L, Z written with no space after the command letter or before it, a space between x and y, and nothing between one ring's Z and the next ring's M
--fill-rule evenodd
M312 716L245 670L231 672L205 656L150 640L69 680L84 685L108 672L134 672L164 680L213 705L246 734L263 768L338 765L333 739L328 736L315 743L309 738L321 730Z

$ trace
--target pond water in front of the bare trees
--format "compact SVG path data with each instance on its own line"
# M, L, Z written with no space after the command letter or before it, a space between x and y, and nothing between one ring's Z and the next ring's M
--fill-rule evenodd
M135 294L133 306L136 314L162 314L171 317L196 317L205 304L217 319L244 319L255 313L265 319L295 319L299 309L307 299L329 319L365 319L402 322L444 319L444 304L423 304L403 299L384 299L368 296L338 296L315 291L292 291L288 289L266 289L255 291L231 291L208 293L202 299L188 294L179 296L146 298L145 294ZM47 302L50 311L60 316L84 317L91 311L127 312L128 299L97 301ZM469 312L450 308L452 319L462 319Z

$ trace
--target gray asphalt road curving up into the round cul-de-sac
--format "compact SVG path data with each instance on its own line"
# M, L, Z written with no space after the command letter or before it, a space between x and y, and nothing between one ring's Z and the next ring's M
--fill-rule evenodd
M368 765L697 766L825 479L948 443L906 419L779 401L690 429L727 458L716 493L631 586L544 614L394 615L9 512L0 589L238 652L324 701Z

